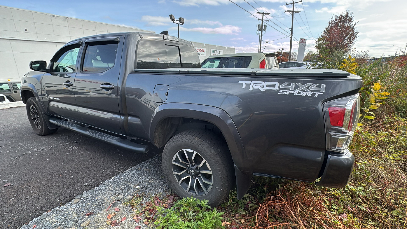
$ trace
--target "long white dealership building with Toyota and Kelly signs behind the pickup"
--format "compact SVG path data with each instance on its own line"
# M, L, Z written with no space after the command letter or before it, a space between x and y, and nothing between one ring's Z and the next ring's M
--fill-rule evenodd
M0 6L0 81L20 80L32 60L49 61L67 42L90 35L115 32L150 32L143 29L92 22L49 13ZM214 50L235 53L234 48L193 42L201 61ZM203 51L205 50L205 51ZM202 54L204 52L204 55Z

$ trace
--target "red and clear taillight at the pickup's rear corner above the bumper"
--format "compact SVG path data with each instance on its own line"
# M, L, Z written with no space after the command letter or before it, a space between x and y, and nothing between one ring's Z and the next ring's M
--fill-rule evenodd
M359 94L328 101L325 115L326 150L344 152L352 141L360 112Z

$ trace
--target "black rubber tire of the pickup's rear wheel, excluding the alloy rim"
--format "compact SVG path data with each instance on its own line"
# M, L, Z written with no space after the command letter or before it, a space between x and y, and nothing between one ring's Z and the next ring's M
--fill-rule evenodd
M186 189L178 183L176 175L173 173L173 159L175 158L175 154L182 152L181 150L184 149L197 152L199 156L206 160L210 167L212 172L212 186L205 194L194 195L187 192ZM197 199L205 199L208 200L208 204L211 207L215 207L227 200L230 189L232 189L235 182L233 161L228 145L223 138L209 130L186 130L172 137L162 152L162 170L169 186L178 196L193 196ZM201 174L201 179L203 176L206 176L206 174ZM193 180L191 179L191 181ZM198 187L202 187L202 185L198 185ZM203 191L203 189L201 189L201 191Z

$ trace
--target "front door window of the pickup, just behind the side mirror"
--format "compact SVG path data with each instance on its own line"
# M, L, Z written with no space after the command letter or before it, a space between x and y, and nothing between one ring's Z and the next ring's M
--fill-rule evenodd
M73 73L78 59L79 47L79 44L69 46L65 51L54 57L52 71L57 73Z

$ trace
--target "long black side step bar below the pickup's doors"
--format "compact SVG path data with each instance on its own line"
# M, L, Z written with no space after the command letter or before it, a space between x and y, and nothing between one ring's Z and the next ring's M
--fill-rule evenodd
M62 119L57 119L55 117L50 118L50 123L53 123L56 126L60 126L65 129L68 129L68 130L78 132L78 133L86 135L88 137L104 141L104 142L112 144L112 145L117 145L118 147L125 148L126 150L131 150L136 153L145 154L149 151L148 145L141 145L138 143L127 141L125 139L121 139L119 137L116 137L116 136L113 136L110 134L106 134L106 133L100 132L98 130L92 130L92 129L80 126L78 124L75 124L75 123L70 123L70 122L64 121Z

